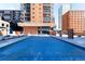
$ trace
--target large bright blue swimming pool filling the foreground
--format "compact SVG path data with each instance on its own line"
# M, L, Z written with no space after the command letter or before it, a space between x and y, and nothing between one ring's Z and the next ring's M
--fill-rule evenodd
M28 37L0 49L1 61L85 60L85 50L52 37Z

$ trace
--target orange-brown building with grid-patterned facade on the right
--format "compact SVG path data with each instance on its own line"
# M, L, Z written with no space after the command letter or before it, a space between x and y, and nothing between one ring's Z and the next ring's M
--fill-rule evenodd
M75 35L85 35L85 11L68 11L62 15L62 30L73 29Z

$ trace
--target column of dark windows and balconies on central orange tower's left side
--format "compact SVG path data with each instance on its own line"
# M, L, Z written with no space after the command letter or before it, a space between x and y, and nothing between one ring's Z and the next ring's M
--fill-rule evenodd
M22 11L22 17L20 17L20 21L22 22L30 22L30 3L22 3L20 4L20 11Z

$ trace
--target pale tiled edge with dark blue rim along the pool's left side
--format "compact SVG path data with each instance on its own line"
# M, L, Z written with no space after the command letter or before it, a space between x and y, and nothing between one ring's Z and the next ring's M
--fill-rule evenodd
M6 46L16 43L16 42L18 42L18 41L20 41L20 40L24 40L24 39L26 39L26 38L28 38L28 36L20 37L20 38L18 38L18 39L15 38L15 39L11 39L11 40L5 40L5 41L3 41L4 43L0 43L0 48L3 48L3 47L6 47Z

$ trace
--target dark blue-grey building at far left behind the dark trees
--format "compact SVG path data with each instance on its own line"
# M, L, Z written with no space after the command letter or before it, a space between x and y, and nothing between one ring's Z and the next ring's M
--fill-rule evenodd
M0 17L6 22L18 23L20 20L20 11L19 10L0 10Z

